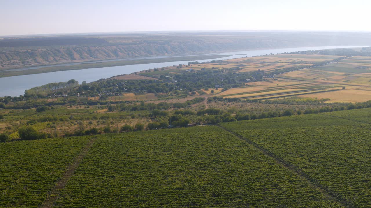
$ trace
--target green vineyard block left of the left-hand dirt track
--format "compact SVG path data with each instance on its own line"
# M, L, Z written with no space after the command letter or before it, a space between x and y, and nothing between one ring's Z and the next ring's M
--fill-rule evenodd
M87 137L0 143L0 207L37 207Z

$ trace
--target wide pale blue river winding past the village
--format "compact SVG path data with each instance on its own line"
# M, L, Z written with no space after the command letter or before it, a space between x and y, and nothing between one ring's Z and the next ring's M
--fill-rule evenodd
M298 48L278 48L278 49L267 49L267 50L250 50L250 51L235 51L220 53L222 55L232 55L224 58L213 58L206 60L191 60L191 61L212 61L212 60L223 60L230 58L241 58L251 56L261 56L265 54L277 54L277 53L289 53L294 51L307 51L307 50L322 50L329 48L356 48L356 47L367 47L367 46L319 46L319 47L298 47ZM236 55L244 54L244 55ZM68 81L75 79L81 83L82 81L92 82L101 78L108 78L120 74L130 74L136 71L147 70L148 68L161 68L172 65L188 64L190 61L173 61L173 62L162 62L162 63L150 63L150 64L135 64L126 66L115 66L115 67L103 67L103 68L87 68L82 70L69 70L69 71L56 71L43 74L29 74L14 77L3 77L0 78L0 97L3 96L19 96L24 94L24 90L32 87L40 86L47 83ZM55 66L55 65L53 65ZM43 66L45 67L45 66ZM26 70L18 69L18 70Z

